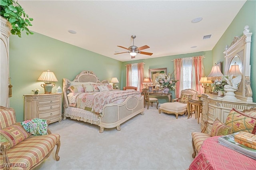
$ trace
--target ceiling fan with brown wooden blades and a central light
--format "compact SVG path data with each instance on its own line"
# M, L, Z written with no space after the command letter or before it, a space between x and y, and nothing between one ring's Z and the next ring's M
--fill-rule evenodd
M124 49L127 49L129 51L127 52L122 52L122 53L130 53L130 55L132 56L132 58L135 58L135 55L137 54L145 54L145 55L152 55L153 53L148 53L148 52L143 52L143 51L140 51L140 50L143 50L143 49L147 49L147 48L150 48L148 45L144 45L142 47L137 47L134 45L134 38L136 38L136 36L131 36L132 39L133 39L133 45L130 46L129 48L126 48L126 47L122 47L120 45L117 45L118 47L121 47L121 48L124 48ZM115 54L122 54L122 53L115 53Z

